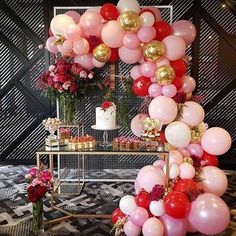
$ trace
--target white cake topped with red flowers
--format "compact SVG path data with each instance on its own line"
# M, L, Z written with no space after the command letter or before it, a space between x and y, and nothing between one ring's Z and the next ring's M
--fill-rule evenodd
M106 101L96 107L96 129L107 130L116 127L116 106Z

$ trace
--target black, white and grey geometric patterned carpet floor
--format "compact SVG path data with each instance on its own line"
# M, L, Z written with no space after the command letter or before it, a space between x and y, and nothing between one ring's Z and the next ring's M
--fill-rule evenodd
M27 203L25 179L28 167L0 167L0 236L27 236L30 233L32 206ZM95 174L95 170L92 171ZM117 177L119 171L116 172ZM127 173L127 171L126 171ZM131 171L132 174L134 174ZM115 174L114 174L115 175ZM227 172L229 187L223 198L230 208L236 208L236 174ZM57 206L82 213L110 214L119 203L120 197L133 194L133 183L86 183L79 196L58 198ZM44 201L45 220L62 216L50 208L49 199ZM235 219L232 221L236 224ZM236 226L229 228L220 235L236 235ZM112 224L109 219L74 219L60 222L47 228L43 235L111 235ZM196 235L196 234L195 234ZM200 235L200 234L198 234Z

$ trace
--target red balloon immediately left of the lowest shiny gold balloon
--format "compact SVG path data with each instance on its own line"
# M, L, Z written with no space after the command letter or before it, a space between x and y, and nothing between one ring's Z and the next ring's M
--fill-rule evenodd
M148 95L148 87L151 84L151 80L148 77L141 76L138 79L134 80L132 85L132 91L140 97Z

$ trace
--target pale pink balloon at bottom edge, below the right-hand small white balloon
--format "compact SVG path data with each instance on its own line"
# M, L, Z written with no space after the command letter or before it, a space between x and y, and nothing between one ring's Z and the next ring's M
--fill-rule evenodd
M142 232L143 236L163 236L164 227L160 220L152 217L145 221Z

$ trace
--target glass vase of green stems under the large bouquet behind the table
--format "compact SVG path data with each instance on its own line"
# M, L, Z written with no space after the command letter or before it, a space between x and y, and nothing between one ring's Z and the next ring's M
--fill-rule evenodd
M61 99L61 110L64 124L73 124L75 122L75 98L63 97Z

